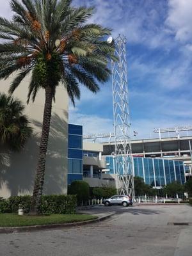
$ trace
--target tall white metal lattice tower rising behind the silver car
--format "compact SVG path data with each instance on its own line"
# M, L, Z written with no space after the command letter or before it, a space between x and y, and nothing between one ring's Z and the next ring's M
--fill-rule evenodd
M113 118L115 133L115 173L118 174L120 194L134 197L133 164L131 156L131 127L129 120L129 92L127 84L126 38L115 40L115 56L112 61Z

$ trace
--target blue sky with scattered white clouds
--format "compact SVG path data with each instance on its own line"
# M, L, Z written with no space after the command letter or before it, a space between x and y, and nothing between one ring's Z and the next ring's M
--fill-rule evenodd
M8 0L0 15L10 16ZM127 36L132 130L154 136L154 127L192 125L192 0L74 0L95 6L90 22ZM111 81L93 95L82 88L69 120L84 134L113 132Z

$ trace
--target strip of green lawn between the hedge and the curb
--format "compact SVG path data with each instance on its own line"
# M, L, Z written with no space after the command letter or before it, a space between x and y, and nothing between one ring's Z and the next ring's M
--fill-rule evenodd
M0 227L22 227L94 220L97 216L88 214L51 214L49 216L19 216L13 213L0 214Z

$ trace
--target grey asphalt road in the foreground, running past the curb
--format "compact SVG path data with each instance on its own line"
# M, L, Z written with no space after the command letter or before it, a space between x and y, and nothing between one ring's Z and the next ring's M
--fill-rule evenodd
M0 255L8 256L191 256L192 207L159 205L95 207L90 213L115 211L92 225L31 233L0 234Z

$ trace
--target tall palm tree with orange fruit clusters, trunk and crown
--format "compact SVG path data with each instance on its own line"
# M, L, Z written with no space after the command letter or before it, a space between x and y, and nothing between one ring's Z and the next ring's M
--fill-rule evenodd
M109 59L114 45L104 36L111 30L88 24L93 8L70 6L71 0L12 0L12 21L0 17L0 79L17 72L10 85L13 93L27 74L31 74L29 99L45 90L44 118L40 152L36 167L32 209L38 212L44 185L45 156L49 138L52 100L59 83L67 89L73 104L80 98L79 85L93 93L110 76Z

